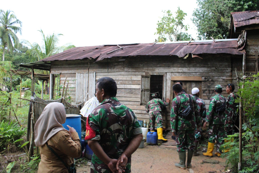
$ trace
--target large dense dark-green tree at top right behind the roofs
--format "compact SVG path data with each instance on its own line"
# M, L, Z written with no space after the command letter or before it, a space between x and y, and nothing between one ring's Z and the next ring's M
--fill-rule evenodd
M229 35L230 13L258 10L259 0L197 0L192 21L198 38L225 39Z

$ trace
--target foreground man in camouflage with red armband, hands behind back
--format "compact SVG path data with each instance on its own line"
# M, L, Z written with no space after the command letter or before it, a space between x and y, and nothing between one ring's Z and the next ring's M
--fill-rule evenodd
M101 105L87 118L86 138L93 150L91 173L131 172L131 155L143 139L134 112L116 98L112 78L97 81L96 96Z

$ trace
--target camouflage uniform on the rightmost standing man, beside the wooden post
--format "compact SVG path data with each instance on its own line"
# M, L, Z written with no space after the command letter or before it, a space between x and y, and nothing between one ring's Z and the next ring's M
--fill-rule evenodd
M226 120L225 120L225 135L234 134L234 124L237 119L237 108L235 104L237 96L235 93L230 93L226 102ZM230 123L228 123L230 121Z

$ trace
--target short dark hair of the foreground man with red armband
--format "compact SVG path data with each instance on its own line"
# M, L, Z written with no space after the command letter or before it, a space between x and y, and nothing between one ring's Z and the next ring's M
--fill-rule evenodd
M98 84L98 89L101 90L103 89L105 93L110 96L110 97L116 97L117 94L117 84L116 82L109 77L103 77L100 78L97 81Z

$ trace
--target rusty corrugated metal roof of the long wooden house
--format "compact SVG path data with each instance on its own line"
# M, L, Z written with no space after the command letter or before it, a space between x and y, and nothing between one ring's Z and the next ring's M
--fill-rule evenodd
M146 44L124 44L120 45L123 49L116 50L119 47L116 45L103 45L103 46L88 46L76 47L66 50L62 53L55 54L51 57L42 59L41 61L64 61L64 60L81 60L81 59L95 59L101 61L105 58L112 57L131 57L140 55L149 56L171 56L185 57L187 54L244 54L245 50L238 50L237 39L225 39L204 41L194 41L189 44L188 42L175 42L175 43L159 43L153 45L152 43ZM112 53L107 54L116 50Z

